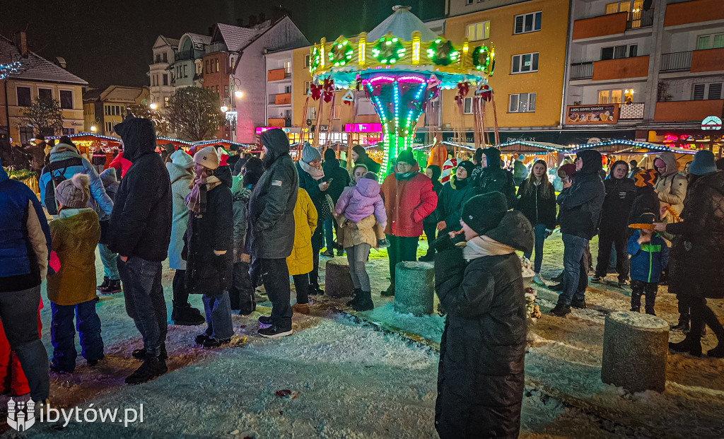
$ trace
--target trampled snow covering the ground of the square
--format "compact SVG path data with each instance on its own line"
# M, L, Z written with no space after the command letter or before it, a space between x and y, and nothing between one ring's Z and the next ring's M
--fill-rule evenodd
M421 242L418 254L425 248ZM595 241L592 251L595 259ZM550 278L563 265L560 236L549 238L545 254L542 272ZM369 262L373 311L350 317L338 311L348 310L347 299L323 297L310 315L295 315L295 335L266 340L256 335L256 319L269 312L260 306L250 317L234 316L237 334L230 346L217 350L193 346L203 327L169 325L169 372L138 386L123 382L140 364L130 356L141 345L138 331L125 314L122 295L103 297L97 309L106 359L91 369L79 356L73 374L51 374L51 404L121 410L143 404L144 422L124 427L72 421L63 427L60 421L22 435L7 426L0 431L32 438L436 438L434 346L444 319L396 314L393 299L379 296L390 282L386 256L387 251L373 251ZM98 258L96 267L100 279ZM173 270L164 269L169 313L172 276ZM565 319L547 314L557 294L538 291L544 316L529 326L522 438L721 437L724 361L670 355L666 393L630 395L600 382L605 314L628 311L630 290L595 285L586 296L589 309ZM43 297L43 342L50 354L44 288ZM190 301L201 306L199 296ZM722 315L716 302L715 312ZM677 317L675 298L665 288L657 314L669 322ZM713 335L705 345L715 345ZM290 390L293 398L277 396L279 390ZM5 401L0 397L0 407Z

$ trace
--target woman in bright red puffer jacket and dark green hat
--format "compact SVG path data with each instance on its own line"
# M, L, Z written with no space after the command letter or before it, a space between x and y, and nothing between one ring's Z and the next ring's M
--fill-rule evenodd
M420 173L420 166L408 150L397 156L395 173L385 177L381 194L387 212L384 234L390 241L390 287L382 291L382 296L395 296L395 265L417 260L422 220L435 210L437 194L432 190L432 180Z

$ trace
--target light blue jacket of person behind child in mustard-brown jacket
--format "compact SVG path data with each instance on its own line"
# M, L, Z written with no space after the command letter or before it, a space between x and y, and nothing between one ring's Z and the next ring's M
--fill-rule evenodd
M96 211L99 218L104 218L111 214L113 210L113 201L106 194L106 189L103 187L101 177L98 176L96 169L83 157L78 154L78 150L74 146L67 145L65 143L58 143L54 149L50 151L50 162L61 162L67 159L80 159L83 162L82 165L70 166L63 172L63 176L66 179L70 179L76 174L86 174L90 177L90 201L88 201L88 207ZM45 200L45 188L51 179L50 172L43 168L43 173L40 178L41 187L41 200ZM93 202L95 201L95 202ZM44 202L44 201L43 201ZM46 206L47 207L47 206ZM104 215L105 214L105 215Z

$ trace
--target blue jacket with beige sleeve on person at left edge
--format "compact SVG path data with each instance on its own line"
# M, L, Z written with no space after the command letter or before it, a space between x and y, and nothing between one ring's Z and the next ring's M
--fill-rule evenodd
M0 291L40 285L50 249L50 228L38 197L0 166Z

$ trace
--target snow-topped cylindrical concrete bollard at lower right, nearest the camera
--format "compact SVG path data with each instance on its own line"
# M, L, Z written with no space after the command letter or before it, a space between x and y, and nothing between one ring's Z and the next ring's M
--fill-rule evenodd
M638 312L608 314L601 380L630 392L663 392L668 343L669 325L659 317Z

